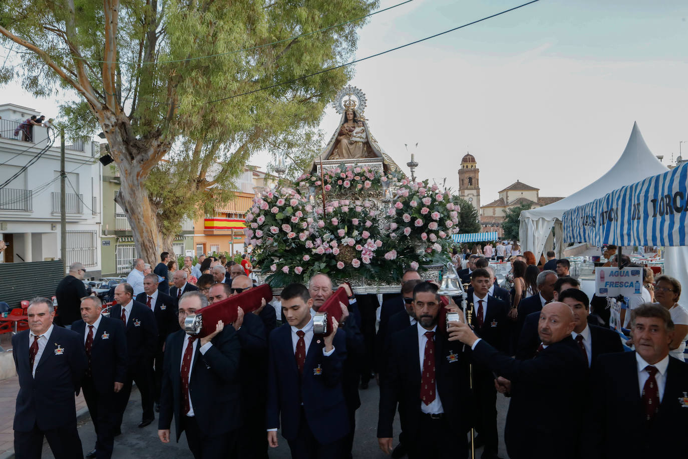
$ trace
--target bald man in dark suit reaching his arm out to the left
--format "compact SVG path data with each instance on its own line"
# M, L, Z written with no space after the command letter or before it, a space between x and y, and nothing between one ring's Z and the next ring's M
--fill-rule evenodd
M451 323L449 339L471 346L473 359L499 375L499 392L511 394L504 429L511 459L577 458L588 365L570 336L571 308L550 303L540 317L542 348L527 361L499 352L464 323ZM544 408L552 403L556 409Z

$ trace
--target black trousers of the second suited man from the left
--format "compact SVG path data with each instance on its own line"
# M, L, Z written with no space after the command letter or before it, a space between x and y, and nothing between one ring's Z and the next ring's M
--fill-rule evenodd
M98 394L91 378L83 380L81 390L96 430L96 458L109 459L112 456L118 420L115 392L113 390L111 394Z

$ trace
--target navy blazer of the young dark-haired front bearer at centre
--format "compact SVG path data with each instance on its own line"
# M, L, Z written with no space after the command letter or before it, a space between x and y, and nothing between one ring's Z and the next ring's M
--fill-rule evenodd
M342 389L347 356L343 330L334 335L334 352L323 355L325 340L314 334L299 376L288 323L275 328L268 341L267 427L280 426L282 436L294 440L299 433L301 403L315 439L327 445L349 433L349 418Z

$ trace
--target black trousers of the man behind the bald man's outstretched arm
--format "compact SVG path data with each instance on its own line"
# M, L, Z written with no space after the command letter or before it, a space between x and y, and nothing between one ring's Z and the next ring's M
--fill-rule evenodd
M485 448L483 458L497 456L499 436L497 434L497 389L495 376L490 370L473 365L473 394L475 396L475 430L480 434Z

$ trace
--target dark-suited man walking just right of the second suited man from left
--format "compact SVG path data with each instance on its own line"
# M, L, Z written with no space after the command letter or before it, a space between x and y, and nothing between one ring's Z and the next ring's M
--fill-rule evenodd
M129 395L131 383L136 381L141 393L143 414L138 427L143 428L153 422L153 357L158 345L158 325L153 311L144 303L134 301L133 289L129 284L115 287L115 300L118 304L110 309L110 317L121 319L127 332L127 378L124 387L115 396L118 409L118 421L115 426L117 436L122 427L122 416Z

